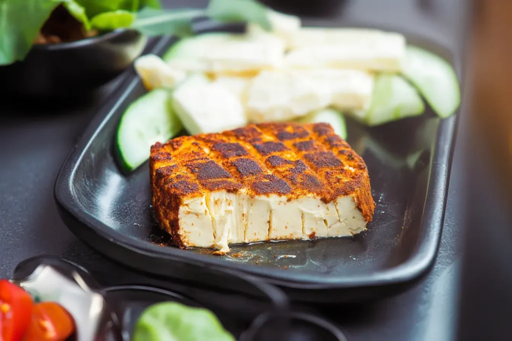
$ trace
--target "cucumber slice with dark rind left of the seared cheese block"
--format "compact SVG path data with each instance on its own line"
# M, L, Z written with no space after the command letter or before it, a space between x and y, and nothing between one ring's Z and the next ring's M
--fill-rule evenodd
M117 128L123 166L136 169L150 157L152 145L166 142L182 128L166 89L155 89L140 97L126 109Z

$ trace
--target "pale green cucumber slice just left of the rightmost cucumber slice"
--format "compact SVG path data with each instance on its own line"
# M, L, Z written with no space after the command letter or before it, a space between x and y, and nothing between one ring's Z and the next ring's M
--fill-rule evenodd
M401 76L379 74L375 78L372 102L367 111L354 116L369 126L376 126L406 117L418 116L425 105L416 89Z

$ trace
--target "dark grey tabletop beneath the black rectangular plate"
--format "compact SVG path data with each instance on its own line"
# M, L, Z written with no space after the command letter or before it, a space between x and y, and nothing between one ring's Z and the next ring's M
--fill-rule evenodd
M206 1L167 3L203 6ZM331 9L331 13L369 25L428 35L461 51L467 18L463 5L464 0L358 0L348 2L344 8ZM0 106L0 278L8 277L15 264L25 258L54 254L89 268L104 285L139 282L139 275L94 253L75 238L60 220L53 199L54 180L62 162L95 115L95 108L116 85L114 81L93 98L71 107L32 105L22 110L12 105ZM458 130L457 141L465 131L463 115ZM442 241L430 274L396 297L342 305L338 314L328 314L343 327L349 340L453 338L461 254L462 172L462 149L457 143Z

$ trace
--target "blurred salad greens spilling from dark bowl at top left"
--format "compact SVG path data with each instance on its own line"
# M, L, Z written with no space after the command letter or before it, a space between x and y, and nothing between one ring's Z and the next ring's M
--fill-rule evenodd
M23 60L50 14L64 6L86 31L133 29L145 35L191 35L191 20L250 21L269 29L257 0L211 0L206 9L161 8L159 0L0 0L0 65Z

